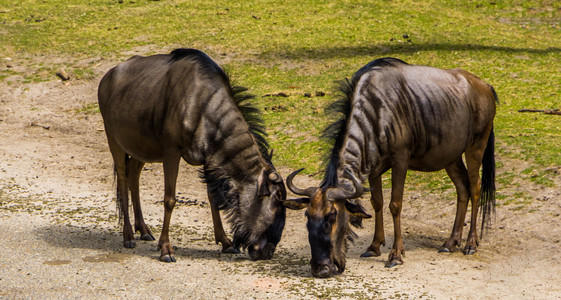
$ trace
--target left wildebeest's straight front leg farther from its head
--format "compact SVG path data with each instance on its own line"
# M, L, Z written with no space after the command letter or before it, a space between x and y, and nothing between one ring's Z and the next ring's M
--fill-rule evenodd
M160 260L163 262L175 262L173 250L169 241L169 225L171 213L175 207L175 184L177 182L177 172L179 169L180 156L171 156L164 159L164 225L158 248L160 249Z

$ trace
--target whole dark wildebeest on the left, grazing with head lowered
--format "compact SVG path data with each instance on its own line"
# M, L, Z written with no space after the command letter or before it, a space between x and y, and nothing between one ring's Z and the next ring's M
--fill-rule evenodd
M214 237L222 252L242 247L254 260L271 258L284 229L286 190L271 163L259 111L246 102L252 96L245 91L232 87L226 73L194 49L135 56L103 77L99 109L115 162L125 247L135 247L129 189L134 229L141 239L154 240L142 217L139 176L146 162L163 162L165 214L158 247L160 260L175 261L168 232L183 158L203 165ZM233 243L222 227L220 209L227 211Z

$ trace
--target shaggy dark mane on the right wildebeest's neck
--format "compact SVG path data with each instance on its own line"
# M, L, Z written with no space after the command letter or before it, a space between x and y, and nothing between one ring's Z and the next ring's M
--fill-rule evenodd
M364 67L360 68L351 80L345 78L339 82L340 98L329 105L326 112L329 114L338 114L336 121L327 126L323 131L322 137L327 139L332 145L331 151L328 153L326 161L325 175L321 183L321 188L326 189L331 186L336 186L338 182L337 168L339 166L339 152L343 147L345 133L347 131L348 117L351 113L351 104L353 95L358 84L358 81L364 73L370 71L375 67L393 67L399 64L407 64L406 62L392 57L384 57L371 61Z

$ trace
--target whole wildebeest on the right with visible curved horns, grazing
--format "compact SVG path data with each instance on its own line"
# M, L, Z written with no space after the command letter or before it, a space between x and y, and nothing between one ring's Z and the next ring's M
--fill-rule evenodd
M363 193L365 179L372 187L370 201L376 225L372 244L363 256L381 254L380 245L385 244L381 175L389 169L389 208L395 234L389 267L403 263L400 213L408 169L446 169L456 186L456 220L443 251L454 251L460 245L471 198L472 222L464 254L474 253L478 246L478 206L483 205L484 224L495 202L493 118L497 95L493 87L463 70L441 70L382 58L356 72L350 82L343 84L342 91L343 99L331 108L344 117L326 130L334 146L321 186L295 187L292 179L300 170L286 181L292 192L306 196L287 200L285 205L307 207L312 274L327 277L344 271L347 239L355 236L349 223L360 225L362 218L371 217L359 204L349 201Z

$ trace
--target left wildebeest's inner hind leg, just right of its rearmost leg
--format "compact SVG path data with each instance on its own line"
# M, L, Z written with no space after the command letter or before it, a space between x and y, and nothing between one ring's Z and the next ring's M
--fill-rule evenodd
M140 206L140 172L144 166L144 162L132 158L127 161L127 179L129 184L129 189L131 191L132 206L134 208L134 231L140 232L140 239L145 241L155 240L152 232L146 224L144 223L144 217L142 216L142 208Z

